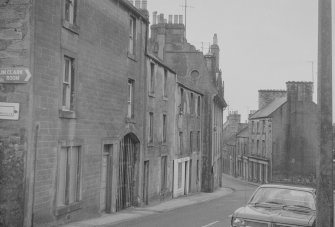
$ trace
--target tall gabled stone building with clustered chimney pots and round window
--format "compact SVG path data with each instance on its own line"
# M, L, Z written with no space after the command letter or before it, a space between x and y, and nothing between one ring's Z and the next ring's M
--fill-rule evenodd
M179 84L191 91L199 91L193 94L194 100L196 99L195 96L203 94L200 98L200 108L204 114L200 118L201 127L199 126L201 128L201 156L197 156L195 160L191 160L190 156L185 156L185 162L188 162L186 160L190 158L190 163L193 163L192 171L189 171L189 174L186 171L186 179L196 175L196 165L194 163L199 161L202 169L201 189L203 191L213 191L219 186L221 179L222 115L226 107L219 68L220 49L217 36L214 35L210 52L204 55L187 42L182 16L169 15L168 19L165 19L163 14L157 15L157 12L154 12L150 46L152 52L158 58L176 71ZM185 126L190 127L187 131L191 133L194 130L192 128L196 128L194 125L198 124L198 120L192 114L184 117L188 118L188 120L183 121L183 124L194 122L191 126ZM183 127L181 126L180 128ZM178 134L180 133L185 138L193 137L190 134L184 135L182 131L179 131ZM184 141L188 140L184 139ZM184 149L190 150L189 146L186 143ZM189 168L187 165L191 166L191 164L187 163L184 165L186 169ZM176 173L174 175L176 176Z

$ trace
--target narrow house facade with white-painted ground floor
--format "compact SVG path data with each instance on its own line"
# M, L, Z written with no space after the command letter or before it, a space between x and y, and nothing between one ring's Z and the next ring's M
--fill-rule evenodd
M201 190L202 100L194 88L178 82L176 87L173 197Z

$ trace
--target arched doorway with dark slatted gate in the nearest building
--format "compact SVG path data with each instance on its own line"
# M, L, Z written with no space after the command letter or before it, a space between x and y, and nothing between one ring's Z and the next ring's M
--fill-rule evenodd
M139 140L130 133L120 141L116 211L136 205Z

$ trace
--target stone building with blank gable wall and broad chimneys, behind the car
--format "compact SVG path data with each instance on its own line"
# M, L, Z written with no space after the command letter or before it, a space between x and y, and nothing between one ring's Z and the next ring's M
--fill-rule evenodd
M287 82L284 91L259 91L260 110L249 119L249 176L253 181L315 180L317 109L312 82ZM264 92L271 93L264 100Z

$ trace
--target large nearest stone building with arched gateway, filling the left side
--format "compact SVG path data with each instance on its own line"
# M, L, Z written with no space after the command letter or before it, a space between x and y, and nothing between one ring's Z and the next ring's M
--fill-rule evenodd
M0 119L1 226L142 204L146 12L125 0L2 1L0 65L32 77L0 83L1 105L19 107L18 120Z

